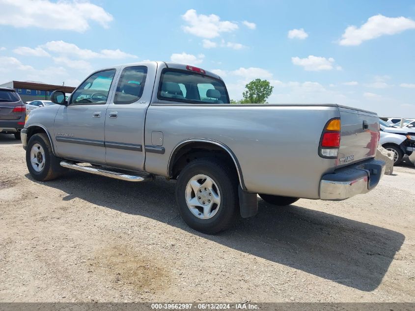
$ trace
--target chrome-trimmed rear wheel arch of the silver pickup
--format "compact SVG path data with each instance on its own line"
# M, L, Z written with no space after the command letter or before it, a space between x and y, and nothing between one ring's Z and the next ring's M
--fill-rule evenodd
M246 190L245 183L244 183L244 177L242 174L241 166L239 164L239 161L236 157L236 155L233 153L233 151L224 143L220 141L215 141L211 139L188 139L184 141L180 141L171 151L170 157L168 159L168 165L167 165L167 174L169 177L175 177L174 176L174 168L175 165L178 163L178 161L188 154L190 150L199 150L198 152L203 152L200 150L205 151L221 151L224 154L226 154L231 160L235 167L235 170L238 174L239 183L241 185L241 188L243 190Z

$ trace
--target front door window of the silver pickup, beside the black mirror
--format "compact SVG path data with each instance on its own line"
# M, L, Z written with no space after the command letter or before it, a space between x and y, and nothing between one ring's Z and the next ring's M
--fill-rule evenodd
M102 105L107 102L115 69L99 71L86 79L71 96L70 105Z

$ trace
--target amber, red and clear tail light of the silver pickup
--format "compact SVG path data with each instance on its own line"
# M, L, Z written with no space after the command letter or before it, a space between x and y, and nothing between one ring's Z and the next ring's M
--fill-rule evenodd
M320 157L335 159L337 158L338 149L340 147L340 119L334 118L327 122L321 134L318 152Z

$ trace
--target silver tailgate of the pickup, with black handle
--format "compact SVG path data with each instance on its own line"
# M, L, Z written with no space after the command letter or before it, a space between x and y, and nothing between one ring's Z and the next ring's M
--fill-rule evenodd
M337 167L373 158L379 141L378 115L346 107L339 110L341 136Z

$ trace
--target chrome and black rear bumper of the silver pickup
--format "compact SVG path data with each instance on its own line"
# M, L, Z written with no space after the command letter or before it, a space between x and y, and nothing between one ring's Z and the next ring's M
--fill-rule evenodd
M385 162L375 159L334 170L320 181L320 199L338 201L367 193L376 187L384 173Z

